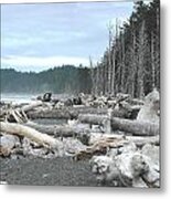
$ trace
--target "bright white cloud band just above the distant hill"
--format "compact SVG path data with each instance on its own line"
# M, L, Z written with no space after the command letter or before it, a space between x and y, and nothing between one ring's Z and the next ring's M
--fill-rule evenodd
M79 64L85 66L89 65L88 59L74 56L7 56L1 59L1 63L3 67L12 67L15 65L15 69L19 71L36 72L64 64L71 64L75 66L78 66Z

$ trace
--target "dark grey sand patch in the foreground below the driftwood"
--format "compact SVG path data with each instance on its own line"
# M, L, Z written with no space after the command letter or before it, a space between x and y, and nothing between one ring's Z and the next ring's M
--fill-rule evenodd
M72 158L0 158L0 178L9 185L98 186L88 161Z

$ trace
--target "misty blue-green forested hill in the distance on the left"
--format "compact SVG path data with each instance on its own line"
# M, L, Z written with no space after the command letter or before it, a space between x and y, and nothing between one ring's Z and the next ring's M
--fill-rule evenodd
M2 93L90 93L89 70L84 66L63 65L40 73L1 69Z

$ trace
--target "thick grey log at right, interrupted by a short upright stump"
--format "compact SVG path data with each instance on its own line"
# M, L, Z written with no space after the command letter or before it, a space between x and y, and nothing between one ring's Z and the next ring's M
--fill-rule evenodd
M99 116L99 115L79 115L78 121L81 123L88 124L97 124L105 125L106 121L108 121L108 116ZM141 135L141 136L154 136L159 135L159 124L150 123L150 122L141 122L141 121L130 121L124 118L111 118L111 128L113 130L121 130L125 133L131 133L132 135Z

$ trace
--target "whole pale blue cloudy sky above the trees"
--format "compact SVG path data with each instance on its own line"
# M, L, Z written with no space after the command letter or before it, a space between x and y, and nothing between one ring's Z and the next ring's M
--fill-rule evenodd
M108 24L121 24L127 2L1 4L1 67L40 72L63 64L89 65L108 46Z

